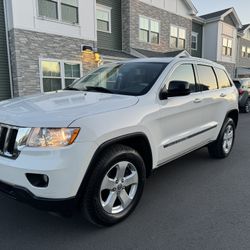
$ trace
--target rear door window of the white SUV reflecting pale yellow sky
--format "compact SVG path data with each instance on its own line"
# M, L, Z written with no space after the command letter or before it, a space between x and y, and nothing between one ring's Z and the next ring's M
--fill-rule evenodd
M197 65L199 88L201 91L218 89L213 68L206 65Z

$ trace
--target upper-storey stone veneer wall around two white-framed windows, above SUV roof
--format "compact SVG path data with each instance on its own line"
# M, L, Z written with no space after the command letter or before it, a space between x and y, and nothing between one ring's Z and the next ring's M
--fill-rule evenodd
M191 53L192 20L170 13L166 10L145 4L139 0L126 0L123 2L123 48L127 48L129 41L131 48L140 48L151 51L170 52L176 48L170 47L170 25L186 29L186 50ZM129 12L127 11L129 9ZM126 10L126 11L125 11ZM125 13L125 16L124 16ZM139 41L139 16L146 16L160 21L160 44L149 44ZM128 35L128 28L130 32Z

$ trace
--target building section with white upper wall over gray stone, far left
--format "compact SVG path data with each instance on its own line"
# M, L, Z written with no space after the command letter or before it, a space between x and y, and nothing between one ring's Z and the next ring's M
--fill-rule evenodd
M2 1L13 96L62 89L91 67L82 48L96 47L93 0Z

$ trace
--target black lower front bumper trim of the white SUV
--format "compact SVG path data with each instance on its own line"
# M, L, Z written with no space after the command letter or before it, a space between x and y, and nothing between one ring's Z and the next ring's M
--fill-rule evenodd
M67 199L41 198L35 196L26 188L10 185L2 181L0 181L0 192L34 208L63 215L71 215L77 208L77 199L75 197Z

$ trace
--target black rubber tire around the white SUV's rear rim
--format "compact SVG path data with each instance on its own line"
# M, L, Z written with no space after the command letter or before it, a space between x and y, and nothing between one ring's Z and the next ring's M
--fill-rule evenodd
M232 128L233 137L232 137L232 145L230 149L227 151L224 149L223 144L224 144L224 135L228 127ZM223 159L228 157L232 151L234 139L235 139L235 123L233 119L226 118L217 140L208 145L208 152L210 156L216 159Z

